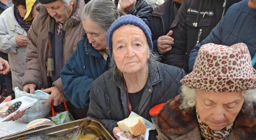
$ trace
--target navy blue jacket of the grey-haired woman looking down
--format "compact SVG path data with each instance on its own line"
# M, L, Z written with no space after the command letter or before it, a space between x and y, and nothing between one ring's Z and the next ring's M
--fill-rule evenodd
M63 92L76 108L89 106L91 84L109 69L109 61L92 47L86 36L78 42L60 74Z

